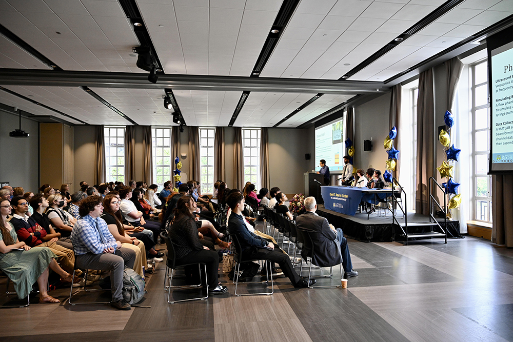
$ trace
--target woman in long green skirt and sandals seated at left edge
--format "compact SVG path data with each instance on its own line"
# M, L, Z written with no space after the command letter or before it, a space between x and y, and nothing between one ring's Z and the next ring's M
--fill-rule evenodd
M71 282L71 274L57 264L57 256L51 249L32 249L25 242L19 242L13 225L6 222L6 216L10 212L9 201L0 199L0 270L11 279L18 298L27 297L37 281L39 303L60 303L60 300L47 293L48 269L60 275L61 280L66 283Z

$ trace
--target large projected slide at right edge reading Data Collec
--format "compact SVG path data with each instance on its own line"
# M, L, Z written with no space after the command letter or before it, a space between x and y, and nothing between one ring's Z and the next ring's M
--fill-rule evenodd
M490 171L513 170L513 42L491 50Z

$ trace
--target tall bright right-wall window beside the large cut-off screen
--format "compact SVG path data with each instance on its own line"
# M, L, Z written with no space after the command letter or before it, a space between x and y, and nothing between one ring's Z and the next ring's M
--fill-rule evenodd
M488 62L470 66L472 113L472 184L474 219L491 222L491 176L488 173L490 154L490 107L488 104Z

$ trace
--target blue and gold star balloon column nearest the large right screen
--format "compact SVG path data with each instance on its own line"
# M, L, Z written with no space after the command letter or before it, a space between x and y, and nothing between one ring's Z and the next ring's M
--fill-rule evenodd
M458 162L461 150L455 148L454 144L452 144L452 146L450 144L450 129L454 125L454 117L448 110L445 112L444 122L445 126L448 127L447 131L441 130L438 139L440 140L440 144L444 147L446 160L445 162L442 162L442 165L440 165L437 170L440 172L441 178L447 177L447 182L442 185L445 189L445 194L449 196L449 211L446 215L447 218L450 219L452 217L450 210L458 208L461 204L461 194L458 193L460 183L457 183L452 179L454 175L454 166L451 165L454 162ZM451 194L454 195L452 198L450 197Z

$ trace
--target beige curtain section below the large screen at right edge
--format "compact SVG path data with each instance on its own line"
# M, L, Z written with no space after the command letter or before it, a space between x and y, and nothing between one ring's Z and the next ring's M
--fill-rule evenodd
M491 209L494 217L491 242L513 247L513 175L494 175L491 180Z

